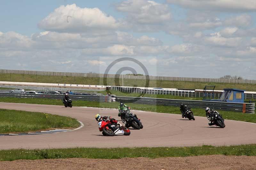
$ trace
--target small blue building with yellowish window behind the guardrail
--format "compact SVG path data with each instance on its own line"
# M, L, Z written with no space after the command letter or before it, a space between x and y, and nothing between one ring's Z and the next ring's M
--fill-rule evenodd
M224 89L220 101L244 103L244 90Z

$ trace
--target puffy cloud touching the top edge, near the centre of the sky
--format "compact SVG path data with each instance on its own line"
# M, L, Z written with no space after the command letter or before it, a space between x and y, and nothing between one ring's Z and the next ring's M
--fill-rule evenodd
M155 1L127 0L117 4L116 9L126 12L132 22L135 21L140 24L163 23L172 18L168 5Z

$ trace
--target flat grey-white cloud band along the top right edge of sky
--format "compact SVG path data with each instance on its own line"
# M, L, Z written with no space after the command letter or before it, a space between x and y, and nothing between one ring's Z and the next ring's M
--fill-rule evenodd
M256 10L255 0L167 0L167 3L200 10L232 12Z

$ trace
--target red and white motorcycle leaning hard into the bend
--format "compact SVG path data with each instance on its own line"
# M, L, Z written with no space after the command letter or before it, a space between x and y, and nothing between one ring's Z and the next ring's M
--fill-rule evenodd
M112 124L109 121L101 121L98 123L99 129L102 131L102 135L104 136L120 136L125 135L129 136L131 134L130 130L124 126L119 126L116 124Z

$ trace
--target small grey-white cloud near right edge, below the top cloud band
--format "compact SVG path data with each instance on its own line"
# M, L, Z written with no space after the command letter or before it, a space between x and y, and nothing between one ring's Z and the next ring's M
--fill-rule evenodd
M243 14L228 18L224 21L224 23L227 26L250 26L252 24L252 17L248 14Z

